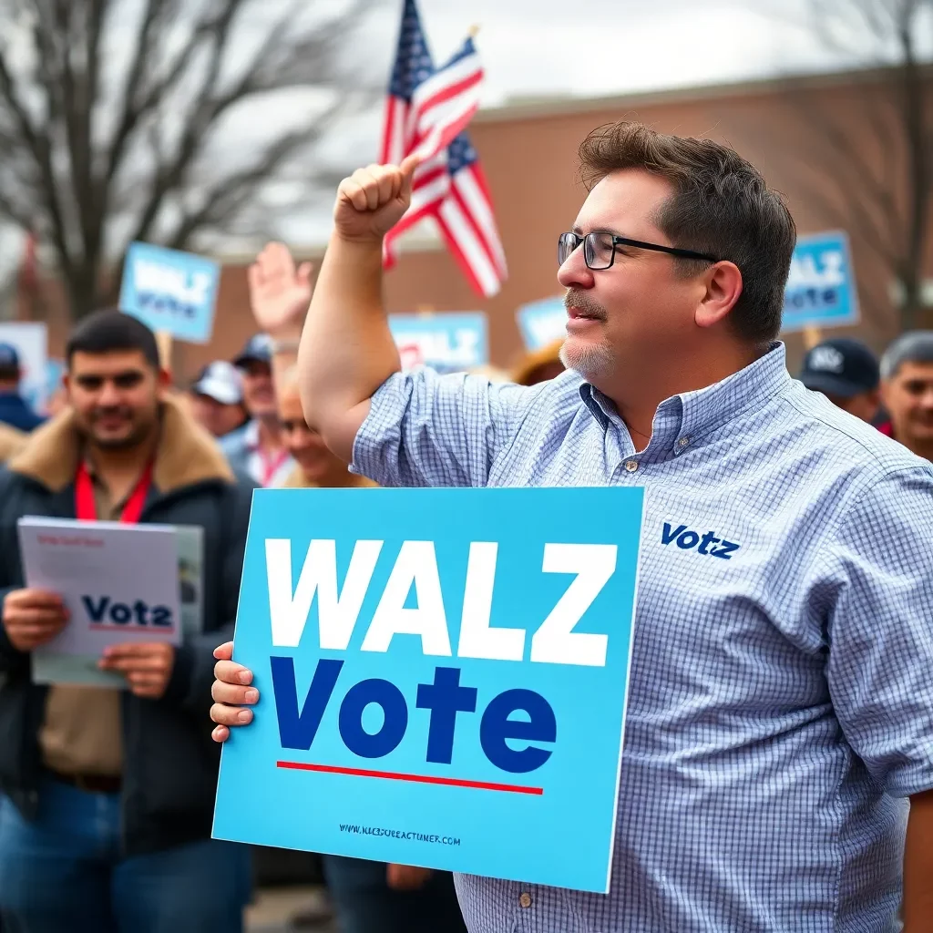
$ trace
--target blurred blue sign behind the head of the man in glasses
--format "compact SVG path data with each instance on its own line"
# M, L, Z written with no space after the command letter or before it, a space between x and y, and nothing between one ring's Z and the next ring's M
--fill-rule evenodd
M801 236L784 293L784 332L858 321L858 293L849 238L840 231Z

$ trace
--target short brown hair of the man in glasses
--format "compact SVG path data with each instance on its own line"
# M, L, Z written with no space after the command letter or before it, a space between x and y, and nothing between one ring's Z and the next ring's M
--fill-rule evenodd
M670 182L674 194L654 218L658 228L681 249L734 262L743 290L732 327L757 344L777 337L797 228L783 198L751 162L712 140L666 136L626 121L593 130L579 156L588 190L620 169L642 169ZM675 261L686 274L708 268L696 259Z

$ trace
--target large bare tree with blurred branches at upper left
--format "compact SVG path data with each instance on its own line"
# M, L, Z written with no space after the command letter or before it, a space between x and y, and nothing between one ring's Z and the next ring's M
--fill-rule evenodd
M363 90L348 39L374 6L6 0L0 221L35 230L72 313L91 310L130 241L187 245L235 226L266 183L312 160L353 107L348 89ZM247 145L225 149L230 114L289 89L333 104L297 127L260 119Z

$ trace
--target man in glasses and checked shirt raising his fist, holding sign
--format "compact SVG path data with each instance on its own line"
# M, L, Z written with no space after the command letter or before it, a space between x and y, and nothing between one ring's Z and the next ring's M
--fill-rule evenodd
M628 123L580 154L570 371L399 371L382 240L413 160L341 184L300 347L306 416L383 486L645 490L608 893L460 875L466 924L931 930L933 469L791 380L794 223L752 165ZM217 656L223 741L258 697Z

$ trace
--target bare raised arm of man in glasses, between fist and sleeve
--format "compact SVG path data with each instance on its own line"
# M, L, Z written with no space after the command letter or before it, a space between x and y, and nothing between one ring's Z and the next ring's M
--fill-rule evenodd
M299 369L305 415L326 438L401 369L383 306L381 242L331 238L301 335Z

